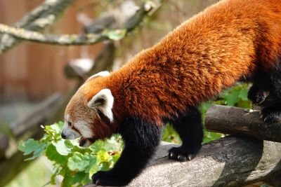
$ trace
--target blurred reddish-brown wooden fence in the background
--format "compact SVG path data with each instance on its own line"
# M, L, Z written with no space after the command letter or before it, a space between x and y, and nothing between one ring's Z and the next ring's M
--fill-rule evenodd
M0 0L0 22L13 25L25 13L38 6L43 0ZM89 1L75 1L55 25L45 32L81 33L77 22L79 6ZM60 91L66 92L73 85L63 74L65 64L81 57L81 51L88 57L95 57L100 45L96 46L48 46L39 43L22 42L0 55L0 101L41 100Z

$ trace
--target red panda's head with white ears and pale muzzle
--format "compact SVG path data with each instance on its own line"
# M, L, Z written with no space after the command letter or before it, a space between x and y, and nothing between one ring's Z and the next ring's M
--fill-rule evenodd
M64 139L81 137L80 145L88 146L96 139L110 137L113 133L114 98L112 92L104 88L97 78L108 75L107 71L102 71L91 76L70 99L65 109Z

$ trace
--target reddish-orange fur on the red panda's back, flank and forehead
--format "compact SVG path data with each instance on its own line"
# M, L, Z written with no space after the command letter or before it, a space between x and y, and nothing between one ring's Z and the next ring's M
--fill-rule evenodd
M115 121L112 129L102 130L103 137L112 134L126 116L162 125L163 118L213 98L250 76L257 66L270 71L280 53L280 0L221 1L183 22L119 71L86 81L67 110L89 110L86 102L108 88L115 98ZM93 128L103 122L98 123Z

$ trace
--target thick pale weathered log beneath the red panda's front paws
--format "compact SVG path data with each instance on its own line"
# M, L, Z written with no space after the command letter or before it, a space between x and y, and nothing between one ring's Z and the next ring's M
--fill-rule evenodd
M172 146L159 146L150 165L128 186L242 186L281 170L281 143L273 141L224 137L204 144L188 162L168 160Z

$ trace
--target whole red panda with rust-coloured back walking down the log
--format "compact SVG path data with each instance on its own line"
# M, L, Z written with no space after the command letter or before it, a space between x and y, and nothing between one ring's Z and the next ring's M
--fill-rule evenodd
M225 0L183 22L118 71L89 78L65 111L62 137L81 146L122 134L124 151L115 167L93 175L93 183L122 186L137 176L171 123L183 143L173 160L200 151L202 122L197 106L236 81L253 83L248 97L275 103L261 113L281 119L281 1Z

